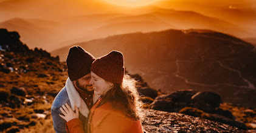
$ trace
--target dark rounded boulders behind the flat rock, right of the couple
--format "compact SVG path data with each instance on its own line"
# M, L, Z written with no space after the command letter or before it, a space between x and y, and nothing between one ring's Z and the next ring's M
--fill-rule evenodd
M220 109L220 103L221 97L214 92L177 91L156 97L150 108L180 112L246 129L246 125L236 121L230 111Z

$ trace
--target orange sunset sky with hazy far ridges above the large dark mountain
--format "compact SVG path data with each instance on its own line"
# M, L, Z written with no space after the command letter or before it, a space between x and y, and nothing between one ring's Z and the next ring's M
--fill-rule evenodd
M0 28L18 31L29 47L42 45L47 50L170 28L204 28L254 38L255 24L254 0L0 0Z

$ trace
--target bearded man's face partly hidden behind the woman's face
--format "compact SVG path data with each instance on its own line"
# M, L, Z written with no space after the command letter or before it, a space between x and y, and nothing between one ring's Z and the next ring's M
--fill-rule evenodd
M76 88L80 88L87 91L94 91L92 85L89 83L91 80L91 73L86 74L78 80L74 80L74 85Z

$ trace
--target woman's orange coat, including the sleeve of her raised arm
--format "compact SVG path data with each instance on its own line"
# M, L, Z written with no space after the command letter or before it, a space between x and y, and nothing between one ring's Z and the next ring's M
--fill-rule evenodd
M99 108L94 110L92 114L92 122L88 128L88 133L100 132L133 132L142 133L142 125L140 120L133 120L126 117L121 111L112 108L110 102L106 102ZM81 120L75 118L66 123L67 132L77 133L84 132Z

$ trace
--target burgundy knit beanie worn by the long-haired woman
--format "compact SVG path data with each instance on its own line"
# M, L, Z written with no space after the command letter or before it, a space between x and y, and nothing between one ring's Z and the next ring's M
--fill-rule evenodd
M123 54L119 51L111 51L97 58L92 63L91 71L109 82L122 83L125 74Z

